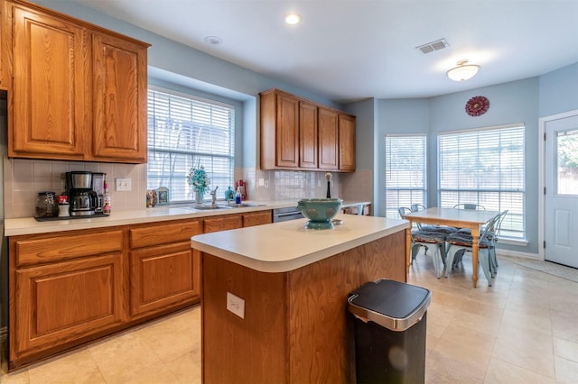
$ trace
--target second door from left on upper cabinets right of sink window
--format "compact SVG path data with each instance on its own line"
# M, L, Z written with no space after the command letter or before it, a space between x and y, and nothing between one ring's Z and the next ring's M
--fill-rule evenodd
M299 166L317 168L317 105L299 102Z

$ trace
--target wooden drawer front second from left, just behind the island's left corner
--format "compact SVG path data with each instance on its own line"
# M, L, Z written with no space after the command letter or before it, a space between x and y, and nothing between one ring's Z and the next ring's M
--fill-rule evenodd
M195 234L202 233L202 220L182 220L146 226L131 226L131 248L148 247L170 242L187 242Z

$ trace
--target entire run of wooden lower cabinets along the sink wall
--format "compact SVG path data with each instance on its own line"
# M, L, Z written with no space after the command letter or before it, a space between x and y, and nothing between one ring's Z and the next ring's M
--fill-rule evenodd
M10 237L9 369L198 304L191 237L271 219L266 210Z

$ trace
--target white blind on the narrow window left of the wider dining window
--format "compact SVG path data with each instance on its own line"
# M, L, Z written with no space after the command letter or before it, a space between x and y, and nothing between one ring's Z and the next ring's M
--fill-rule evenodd
M386 215L399 217L397 208L425 205L426 137L386 136Z

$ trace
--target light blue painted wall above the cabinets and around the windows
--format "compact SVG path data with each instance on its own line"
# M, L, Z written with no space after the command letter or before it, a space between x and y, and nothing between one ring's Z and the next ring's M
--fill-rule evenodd
M557 69L539 78L482 87L471 91L436 96L428 99L362 100L339 105L311 92L293 87L275 78L268 78L227 61L217 59L181 43L170 41L152 32L100 14L70 0L34 0L34 3L70 14L89 23L124 33L152 44L148 52L150 73L166 82L186 80L191 88L228 96L243 105L240 117L244 125L237 143L244 167L256 165L258 149L257 95L260 91L278 87L285 91L317 101L324 105L345 109L357 115L358 169L374 172L374 212L385 215L385 135L386 133L427 133L428 189L437 188L436 135L443 131L485 127L508 123L525 123L526 135L526 191L527 191L527 247L513 247L517 251L537 253L538 224L538 118L578 109L578 63ZM471 96L487 96L490 107L486 114L471 117L464 105ZM430 194L429 206L437 206L437 197Z

